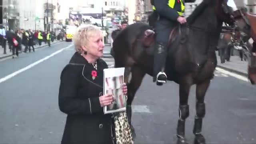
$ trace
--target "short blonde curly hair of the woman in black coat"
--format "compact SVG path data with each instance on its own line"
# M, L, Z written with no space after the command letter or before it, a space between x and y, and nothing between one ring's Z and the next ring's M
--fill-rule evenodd
M80 25L76 29L76 32L73 36L73 43L76 52L81 52L82 46L87 46L90 38L93 38L95 36L102 37L102 31L100 30L100 27L91 24Z

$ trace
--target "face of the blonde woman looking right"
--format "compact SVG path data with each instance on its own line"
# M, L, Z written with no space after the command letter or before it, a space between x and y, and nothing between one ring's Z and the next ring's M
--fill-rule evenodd
M103 48L104 44L100 34L89 38L88 44L85 46L87 54L95 58L100 58L103 56Z

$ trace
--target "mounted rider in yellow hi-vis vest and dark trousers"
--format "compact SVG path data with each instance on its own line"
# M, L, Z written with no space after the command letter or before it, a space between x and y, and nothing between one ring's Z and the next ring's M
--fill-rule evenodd
M154 77L153 82L157 85L166 83L167 76L164 72L167 44L172 29L180 24L186 23L183 12L185 9L184 0L151 0L153 13L158 15L154 22L156 42L154 45Z

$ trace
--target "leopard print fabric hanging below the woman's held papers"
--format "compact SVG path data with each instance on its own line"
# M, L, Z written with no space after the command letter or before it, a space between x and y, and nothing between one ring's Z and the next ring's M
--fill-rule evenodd
M132 132L128 123L126 112L120 112L114 117L116 144L134 144Z

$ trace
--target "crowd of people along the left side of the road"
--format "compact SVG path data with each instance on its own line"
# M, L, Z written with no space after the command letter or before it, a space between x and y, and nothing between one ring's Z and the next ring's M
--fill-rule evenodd
M20 29L15 32L13 30L6 31L4 26L0 26L0 45L4 48L4 54L7 54L6 47L8 45L8 48L13 55L12 58L14 58L15 54L18 56L19 51L31 52L32 48L33 52L35 52L34 46L41 46L42 42L45 44L48 43L48 46L50 46L50 43L54 42L56 39L64 39L64 30L59 30L56 35L53 31L31 29ZM24 46L24 49L22 48L22 45Z

